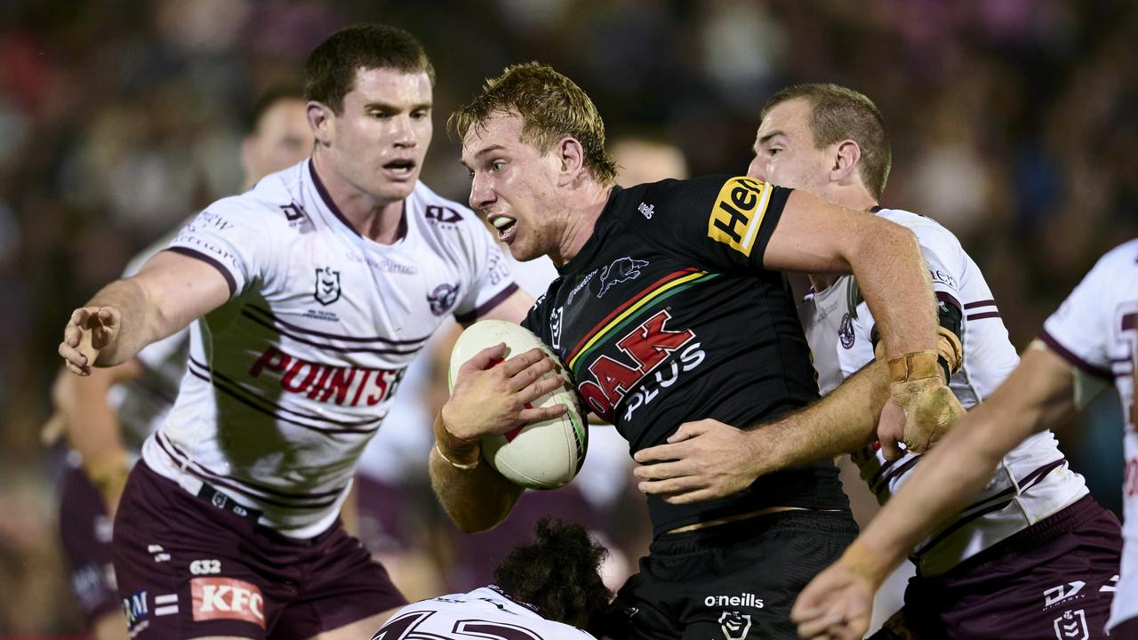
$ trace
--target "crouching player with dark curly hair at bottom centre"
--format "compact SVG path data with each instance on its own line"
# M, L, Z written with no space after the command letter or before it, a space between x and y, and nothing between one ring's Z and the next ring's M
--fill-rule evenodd
M576 524L537 522L536 540L494 569L495 584L407 605L372 640L489 638L588 640L611 593L600 575L605 549Z

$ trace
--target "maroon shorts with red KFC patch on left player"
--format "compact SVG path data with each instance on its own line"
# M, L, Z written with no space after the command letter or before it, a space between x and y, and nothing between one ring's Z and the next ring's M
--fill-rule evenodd
M138 639L299 640L406 604L338 522L308 540L287 538L145 462L126 483L114 545L118 593Z

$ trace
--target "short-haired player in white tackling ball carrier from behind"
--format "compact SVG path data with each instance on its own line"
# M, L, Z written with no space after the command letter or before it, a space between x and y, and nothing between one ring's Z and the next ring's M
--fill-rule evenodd
M932 220L877 206L890 153L868 98L828 84L783 90L762 109L754 153L752 178L875 211L916 235L940 306L943 375L965 408L987 397L1015 368L1019 359L992 293L959 241ZM875 326L852 277L811 274L810 280L815 292L801 309L802 322L819 389L827 394L874 361ZM881 404L869 401L867 409L875 415ZM865 426L840 428L865 442L874 433ZM795 456L841 452L814 449L815 442L801 437ZM891 451L891 444L861 446L852 454L881 502L922 459ZM776 460L770 456L766 463L777 467ZM1105 549L1098 544L1104 531L1113 536ZM1082 477L1067 468L1054 436L1040 433L1004 456L983 491L912 551L918 577L906 591L904 623L894 624L922 637L1037 639L1052 633L1053 621L1071 605L1062 598L1045 604L1040 593L1064 576L1088 584L1110 581L1119 560L1119 531L1113 516L1088 495ZM998 598L978 598L996 591ZM1083 594L1075 608L1088 626L1102 626L1110 599L1110 593Z

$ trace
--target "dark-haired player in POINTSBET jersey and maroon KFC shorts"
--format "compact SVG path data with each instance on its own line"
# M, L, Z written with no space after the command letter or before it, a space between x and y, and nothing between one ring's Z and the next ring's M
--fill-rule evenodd
M312 157L207 207L64 331L85 374L201 319L116 517L132 635L372 632L405 600L338 522L356 458L444 315L518 321L531 303L469 210L418 181L434 71L414 38L345 28L305 74Z

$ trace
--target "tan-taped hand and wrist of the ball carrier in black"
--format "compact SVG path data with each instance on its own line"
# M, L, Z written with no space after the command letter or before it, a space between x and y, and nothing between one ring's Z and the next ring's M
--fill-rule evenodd
M937 352L918 351L889 360L889 402L881 411L877 437L887 460L924 453L955 425L964 408L941 377Z

